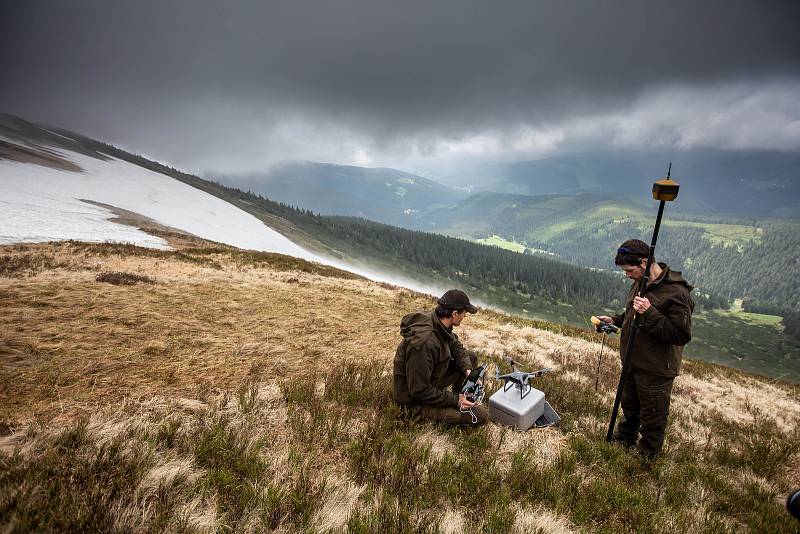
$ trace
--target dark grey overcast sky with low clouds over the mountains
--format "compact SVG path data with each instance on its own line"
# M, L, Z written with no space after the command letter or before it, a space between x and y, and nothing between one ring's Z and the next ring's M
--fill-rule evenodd
M0 111L198 173L800 151L800 2L0 2Z

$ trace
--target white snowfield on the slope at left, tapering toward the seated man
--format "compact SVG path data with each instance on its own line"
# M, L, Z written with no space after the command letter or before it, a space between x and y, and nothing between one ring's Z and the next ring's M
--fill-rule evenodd
M75 239L169 248L161 238L110 221L114 213L82 202L85 199L138 213L203 239L286 254L425 293L440 292L440 288L318 256L233 204L164 174L118 159L101 161L60 152L83 172L0 160L0 245Z

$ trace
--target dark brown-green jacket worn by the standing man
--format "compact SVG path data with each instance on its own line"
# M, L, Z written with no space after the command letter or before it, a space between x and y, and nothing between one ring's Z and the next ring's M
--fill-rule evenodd
M654 280L644 296L650 308L642 315L636 345L631 356L632 369L656 376L674 377L681 370L683 346L692 339L692 300L690 286L678 271L664 263L658 264L663 272ZM625 301L625 312L613 317L614 324L622 328L620 356L630 338L633 321L633 297L639 294L640 282L634 282Z

